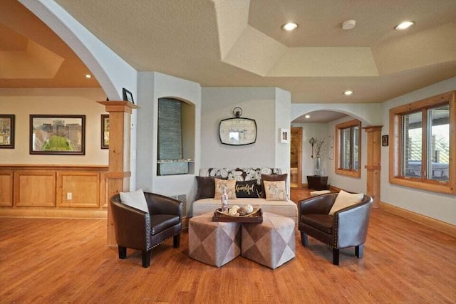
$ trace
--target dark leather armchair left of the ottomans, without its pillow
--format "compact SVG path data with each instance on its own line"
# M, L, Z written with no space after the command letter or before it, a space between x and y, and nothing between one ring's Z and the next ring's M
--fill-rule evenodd
M142 251L142 267L149 267L150 252L155 246L173 238L180 245L182 202L160 194L144 192L149 214L120 202L120 194L111 197L115 239L119 258L126 258L127 248Z

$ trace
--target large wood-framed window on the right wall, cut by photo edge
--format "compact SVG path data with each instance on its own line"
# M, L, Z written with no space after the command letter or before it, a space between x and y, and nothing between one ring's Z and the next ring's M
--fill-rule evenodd
M455 92L390 109L390 183L456 194Z

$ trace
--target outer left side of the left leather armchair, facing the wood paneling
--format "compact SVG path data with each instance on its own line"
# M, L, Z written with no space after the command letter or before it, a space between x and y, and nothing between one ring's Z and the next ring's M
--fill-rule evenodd
M150 216L143 211L111 199L115 239L119 246L147 250Z

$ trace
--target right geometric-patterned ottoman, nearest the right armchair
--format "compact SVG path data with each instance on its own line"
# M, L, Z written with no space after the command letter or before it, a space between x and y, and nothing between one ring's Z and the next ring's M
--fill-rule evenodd
M263 213L263 223L242 224L241 256L275 269L294 258L294 221Z

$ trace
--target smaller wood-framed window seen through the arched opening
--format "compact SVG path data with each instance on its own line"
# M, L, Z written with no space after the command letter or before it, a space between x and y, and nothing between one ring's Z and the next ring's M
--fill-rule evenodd
M336 173L361 177L361 121L336 125Z

